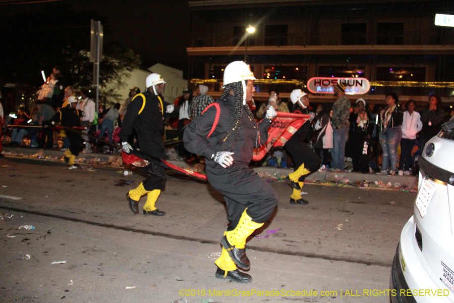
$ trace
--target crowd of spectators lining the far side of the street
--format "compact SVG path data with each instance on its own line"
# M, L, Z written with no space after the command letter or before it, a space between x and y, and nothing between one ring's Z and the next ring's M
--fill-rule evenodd
M70 118L62 114L66 112L63 109L68 108L74 109L73 113L77 116L73 117L77 122L71 124L71 127L81 132L78 133L81 142L76 154L79 150L85 154L120 151L121 148L117 148L115 144L120 142L122 120L128 105L140 93L140 88L131 88L123 105L117 103L106 109L102 102L96 108L91 91L67 84L60 67L55 66L36 91L36 104L30 111L21 105L16 113L8 116L2 109L3 143L11 146L58 148L66 152L72 143L68 138L68 124L64 120ZM195 91L185 89L174 102L179 114L166 121L166 128L175 129L180 139L176 148L177 159L188 163L198 160L203 163L203 157L185 149L181 138L186 125L197 119L214 102L207 94L208 90L202 84ZM269 90L267 102L257 108L254 100L248 102L248 105L257 121L264 117L270 107L277 112L312 114L312 129L310 133L307 132L309 135L305 141L320 157L320 171L330 169L334 172L375 172L388 175L416 174L417 159L424 145L440 131L442 123L454 114L452 109L450 113L445 113L441 98L436 94L428 97L427 107L419 109L415 100L399 102L399 96L392 91L386 94L383 105L368 104L364 98L358 98L352 103L353 100L346 95L346 87L342 83L334 85L332 90L336 97L332 104L312 102L313 107L305 109L296 109L295 104L288 102L286 98L281 99L276 88ZM52 121L56 124L51 124ZM5 127L6 125L12 126ZM128 143L139 147L135 131L130 135ZM295 163L291 154L285 146L272 147L263 160L255 164L292 167Z

